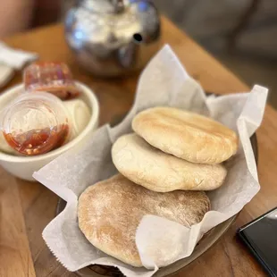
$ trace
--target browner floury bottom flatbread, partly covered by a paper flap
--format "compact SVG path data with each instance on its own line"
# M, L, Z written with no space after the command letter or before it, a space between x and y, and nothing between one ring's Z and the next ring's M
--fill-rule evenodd
M135 237L146 214L184 226L200 222L210 209L204 192L158 193L138 186L121 174L88 187L79 198L80 230L96 248L126 264L142 266Z

